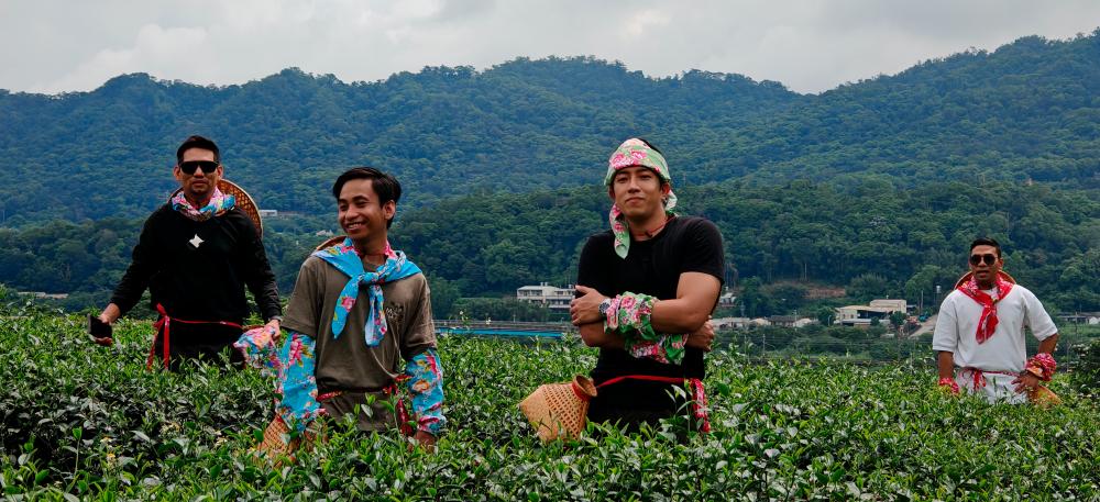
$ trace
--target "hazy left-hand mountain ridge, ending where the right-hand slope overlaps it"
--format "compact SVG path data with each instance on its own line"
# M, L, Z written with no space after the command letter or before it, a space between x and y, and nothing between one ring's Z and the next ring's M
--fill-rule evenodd
M608 148L666 121L702 132L711 113L744 124L798 99L738 76L653 80L586 58L352 85L296 69L226 88L129 75L90 93L0 97L0 198L16 223L144 215L193 133L215 138L227 177L271 209L328 210L327 188L352 165L396 172L410 202L556 188L602 176Z

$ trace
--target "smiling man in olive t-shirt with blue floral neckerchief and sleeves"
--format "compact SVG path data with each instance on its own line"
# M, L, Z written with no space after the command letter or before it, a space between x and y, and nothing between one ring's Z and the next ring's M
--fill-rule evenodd
M265 353L270 342L252 332L238 344L254 364L278 360L278 414L299 431L318 414L339 419L356 404L363 431L397 423L431 446L443 428L428 282L388 241L400 193L393 176L374 168L340 175L332 194L346 236L301 265L283 320L283 348ZM411 395L411 411L399 402L394 416L384 401L398 383Z

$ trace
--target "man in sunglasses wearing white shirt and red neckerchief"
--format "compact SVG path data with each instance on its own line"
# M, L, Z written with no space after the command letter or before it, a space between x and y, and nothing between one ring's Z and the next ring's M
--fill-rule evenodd
M1001 272L1001 245L970 244L970 277L944 299L932 348L938 352L939 386L960 388L990 402L1026 402L1054 375L1058 328L1035 294ZM1040 341L1027 359L1024 326ZM959 367L958 372L955 367Z

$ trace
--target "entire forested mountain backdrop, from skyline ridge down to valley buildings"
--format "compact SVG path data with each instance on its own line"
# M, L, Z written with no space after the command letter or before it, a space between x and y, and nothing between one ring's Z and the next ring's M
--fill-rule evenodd
M771 299L785 304L756 294L782 281L930 298L977 235L1001 239L1044 301L1100 310L1100 30L820 96L593 58L377 82L288 69L229 87L129 75L92 92L0 91L0 283L105 301L194 133L223 146L228 178L261 207L296 213L265 235L284 291L315 232L337 230L329 187L352 165L400 178L393 239L429 271L440 315L459 297L572 282L584 238L607 225L605 159L642 135L670 159L684 213L722 228L748 313L796 306L796 288Z

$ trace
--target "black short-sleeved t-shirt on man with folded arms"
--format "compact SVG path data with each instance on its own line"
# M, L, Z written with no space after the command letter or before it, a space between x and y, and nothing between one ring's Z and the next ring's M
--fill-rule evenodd
M578 270L576 283L600 291L605 297L623 292L645 293L658 300L676 298L680 275L703 272L721 282L725 271L722 234L707 220L674 217L661 233L648 241L630 242L626 258L613 247L614 235L605 231L588 237ZM703 352L689 347L682 365L635 358L622 349L602 348L592 379L600 384L625 375L678 378L703 378ZM637 380L620 381L601 388L588 410L595 421L620 417L623 410L652 410L668 414L678 403L664 399L669 384Z

